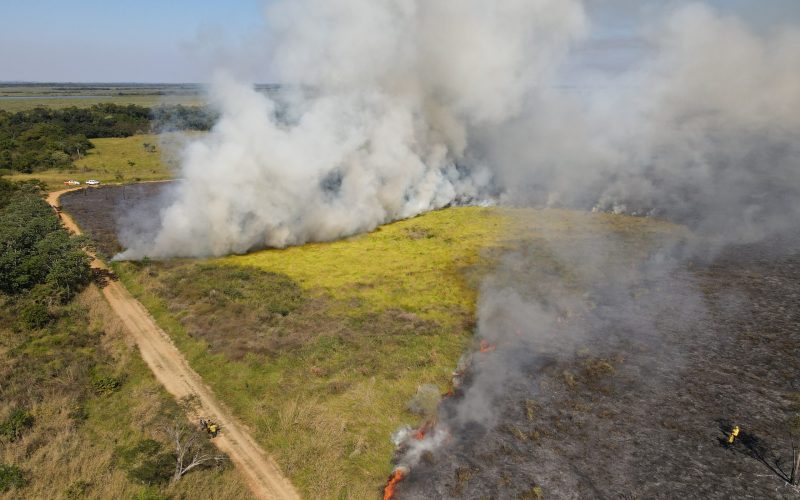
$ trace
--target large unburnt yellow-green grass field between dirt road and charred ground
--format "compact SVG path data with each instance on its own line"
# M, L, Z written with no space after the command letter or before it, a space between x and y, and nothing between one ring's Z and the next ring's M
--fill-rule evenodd
M500 250L545 234L580 244L593 231L645 248L674 228L461 207L338 242L116 268L305 496L361 499L391 469L391 433L419 422L407 406L417 388L448 390L474 342L477 284ZM553 265L544 250L540 262Z

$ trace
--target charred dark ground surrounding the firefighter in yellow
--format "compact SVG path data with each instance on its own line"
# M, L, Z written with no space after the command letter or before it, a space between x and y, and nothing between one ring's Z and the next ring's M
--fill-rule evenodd
M776 473L800 431L800 254L780 243L730 247L649 283L649 326L612 312L573 355L519 354L529 361L497 425L454 429L398 498L797 495ZM729 448L734 424L746 439Z

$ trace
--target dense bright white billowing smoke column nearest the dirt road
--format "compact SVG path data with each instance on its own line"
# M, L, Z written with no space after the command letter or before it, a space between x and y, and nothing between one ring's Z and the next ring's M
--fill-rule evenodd
M330 240L487 196L473 129L517 116L586 29L575 0L292 0L267 19L280 80L313 95L279 109L219 76L219 123L123 258Z

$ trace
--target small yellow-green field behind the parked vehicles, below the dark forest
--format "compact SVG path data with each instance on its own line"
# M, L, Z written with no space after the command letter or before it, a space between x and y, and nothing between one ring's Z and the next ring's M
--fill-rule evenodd
M81 183L97 179L103 184L169 179L178 166L177 153L186 137L190 137L190 134L167 133L93 139L95 148L86 157L75 162L75 169L45 170L33 174L10 175L7 178L40 179L47 184L49 190L63 189L64 181L69 179ZM155 151L146 150L145 144L154 145Z

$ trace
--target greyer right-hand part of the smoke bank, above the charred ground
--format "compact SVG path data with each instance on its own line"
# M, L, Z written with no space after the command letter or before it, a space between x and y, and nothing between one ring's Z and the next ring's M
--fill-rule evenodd
M722 241L797 227L800 30L758 35L691 4L643 36L638 66L493 131L505 198L654 213Z

